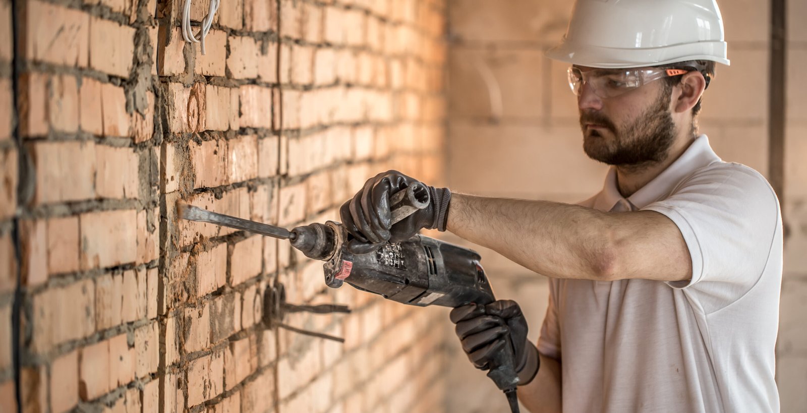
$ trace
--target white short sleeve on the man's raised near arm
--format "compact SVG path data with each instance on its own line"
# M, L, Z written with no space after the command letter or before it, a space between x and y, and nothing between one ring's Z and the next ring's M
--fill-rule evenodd
M673 288L708 290L722 307L762 276L780 223L779 201L764 177L745 165L699 169L670 197L642 210L666 215L692 257L692 279Z

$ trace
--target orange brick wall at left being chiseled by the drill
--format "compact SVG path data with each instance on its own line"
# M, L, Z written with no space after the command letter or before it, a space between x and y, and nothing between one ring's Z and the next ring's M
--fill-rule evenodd
M0 0L0 411L18 269L23 411L442 410L445 312L328 289L285 241L175 208L293 227L383 169L439 183L443 2L226 0L205 55L178 0L19 3L12 33ZM352 307L284 320L345 344L262 323L276 283Z

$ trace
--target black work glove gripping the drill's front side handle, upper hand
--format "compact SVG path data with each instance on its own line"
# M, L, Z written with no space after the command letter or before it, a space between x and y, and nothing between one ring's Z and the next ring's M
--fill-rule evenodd
M354 238L348 243L350 252L375 251L387 242L408 240L423 228L445 231L451 191L433 186L426 186L431 197L429 206L392 224L391 195L416 182L398 171L378 173L341 206L342 223Z

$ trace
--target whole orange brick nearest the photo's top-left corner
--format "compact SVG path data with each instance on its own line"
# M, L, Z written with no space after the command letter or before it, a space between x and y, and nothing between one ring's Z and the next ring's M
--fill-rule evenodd
M87 66L90 15L33 0L27 2L26 19L27 58L56 65Z

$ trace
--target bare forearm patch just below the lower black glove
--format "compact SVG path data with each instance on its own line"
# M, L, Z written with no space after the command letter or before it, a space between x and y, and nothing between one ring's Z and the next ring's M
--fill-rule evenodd
M528 385L518 387L518 399L532 413L556 413L561 411L560 361L541 357L541 368Z

